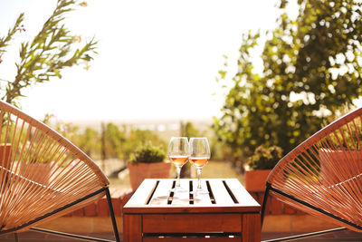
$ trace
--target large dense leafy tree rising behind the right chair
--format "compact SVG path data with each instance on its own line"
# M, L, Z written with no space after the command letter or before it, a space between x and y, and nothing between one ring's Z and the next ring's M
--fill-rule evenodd
M287 5L280 1L281 9ZM214 130L235 158L250 156L260 145L289 152L362 93L362 4L299 0L298 5L295 20L284 10L279 27L268 33L262 74L253 72L251 56L260 34L243 36L223 116L214 119ZM227 71L218 79L226 80Z

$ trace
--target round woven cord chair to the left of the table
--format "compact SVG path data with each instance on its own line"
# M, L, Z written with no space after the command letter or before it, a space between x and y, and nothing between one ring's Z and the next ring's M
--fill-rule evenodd
M14 232L17 240L18 232L106 196L119 241L110 181L90 157L42 122L2 101L0 124L0 235Z

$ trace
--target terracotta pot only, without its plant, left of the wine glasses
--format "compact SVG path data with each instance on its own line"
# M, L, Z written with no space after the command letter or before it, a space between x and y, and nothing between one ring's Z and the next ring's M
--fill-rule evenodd
M170 162L128 163L130 185L136 190L144 179L168 179Z

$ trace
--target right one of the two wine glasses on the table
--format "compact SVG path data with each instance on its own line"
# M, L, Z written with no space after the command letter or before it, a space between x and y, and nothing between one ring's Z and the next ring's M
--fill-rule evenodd
M210 147L207 138L191 138L190 139L190 162L197 170L197 189L195 193L207 194L207 190L201 188L201 169L205 167L207 161L210 160Z

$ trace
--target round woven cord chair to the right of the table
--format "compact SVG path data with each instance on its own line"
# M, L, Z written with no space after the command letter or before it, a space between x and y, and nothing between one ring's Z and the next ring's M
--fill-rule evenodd
M345 227L361 232L362 108L330 123L279 161L267 179L262 218L270 194L342 226L324 232Z

